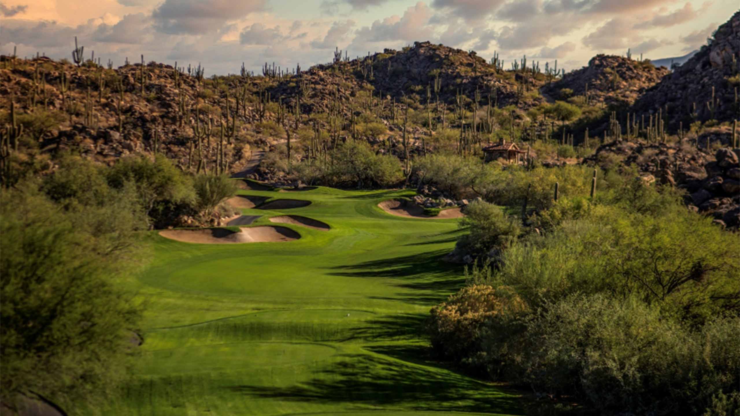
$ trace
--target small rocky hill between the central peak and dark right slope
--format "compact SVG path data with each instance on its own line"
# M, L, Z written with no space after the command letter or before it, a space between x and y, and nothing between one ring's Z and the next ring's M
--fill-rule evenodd
M632 105L642 93L657 84L670 71L650 61L636 61L613 55L597 55L588 67L565 74L543 88L556 99L581 95L589 104ZM564 91L565 90L565 91Z

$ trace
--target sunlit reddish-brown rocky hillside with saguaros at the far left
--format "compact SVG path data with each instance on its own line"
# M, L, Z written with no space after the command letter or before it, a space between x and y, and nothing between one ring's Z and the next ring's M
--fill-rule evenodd
M24 128L19 147L27 156L74 149L112 163L129 153L156 151L182 167L195 168L202 160L201 169L211 171L217 164L238 169L249 159L250 146L260 142L243 130L256 119L251 106L236 114L232 99L227 113L226 95L213 93L211 80L169 65L108 69L44 57L0 61L0 118L11 124L14 116Z

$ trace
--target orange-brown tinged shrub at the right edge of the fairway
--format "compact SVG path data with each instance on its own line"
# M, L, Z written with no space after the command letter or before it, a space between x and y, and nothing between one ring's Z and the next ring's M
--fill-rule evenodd
M431 346L446 359L471 358L482 351L480 335L487 321L510 320L524 311L524 303L511 288L465 286L431 309Z

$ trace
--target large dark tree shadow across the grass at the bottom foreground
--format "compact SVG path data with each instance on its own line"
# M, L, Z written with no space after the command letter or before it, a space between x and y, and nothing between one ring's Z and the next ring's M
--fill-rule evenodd
M379 353L382 349L376 347ZM391 353L393 353L391 351ZM407 354L400 352L397 354ZM448 412L499 412L521 415L517 397L478 380L382 355L346 354L343 360L294 386L228 386L250 397Z

